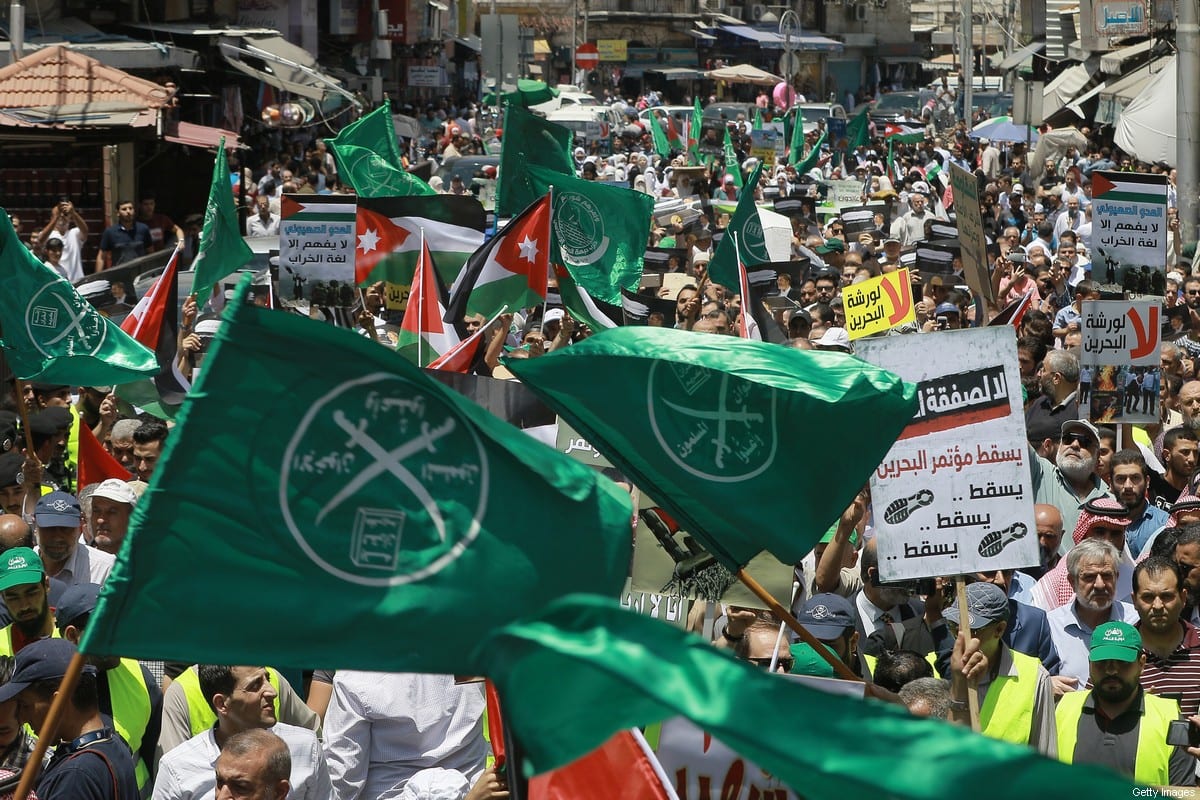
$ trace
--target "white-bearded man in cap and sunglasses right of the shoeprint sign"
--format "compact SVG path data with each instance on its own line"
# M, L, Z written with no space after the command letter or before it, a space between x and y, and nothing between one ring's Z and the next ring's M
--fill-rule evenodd
M1108 486L1096 474L1096 455L1100 432L1087 420L1062 423L1062 439L1055 463L1030 447L1030 473L1033 477L1033 501L1058 509L1066 530L1075 528L1079 510L1088 500L1111 498Z

